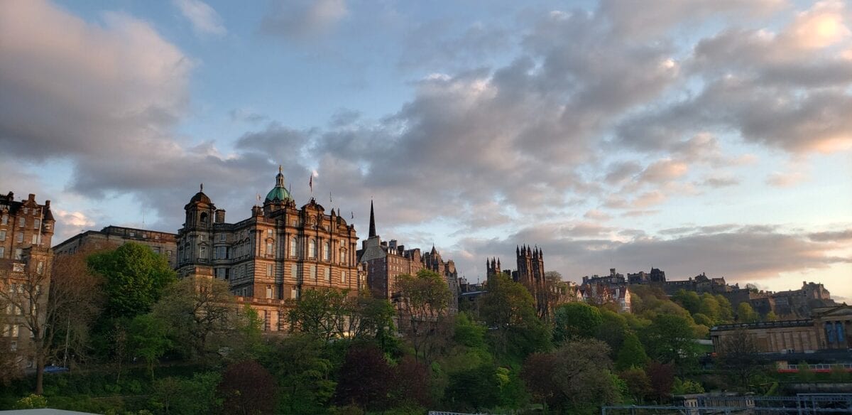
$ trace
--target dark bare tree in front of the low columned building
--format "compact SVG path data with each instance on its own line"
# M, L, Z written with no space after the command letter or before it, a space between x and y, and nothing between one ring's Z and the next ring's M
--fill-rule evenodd
M717 365L734 378L734 384L747 390L750 379L763 361L757 345L745 329L737 329L722 337L717 350Z

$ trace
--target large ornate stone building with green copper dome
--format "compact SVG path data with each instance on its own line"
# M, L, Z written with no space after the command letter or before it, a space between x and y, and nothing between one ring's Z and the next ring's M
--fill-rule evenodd
M186 206L186 222L177 233L177 266L181 277L227 281L242 303L250 303L267 331L285 327L286 300L302 291L361 287L355 251L358 237L339 210L326 213L313 198L296 208L279 168L275 186L251 216L225 222L204 194L195 193Z

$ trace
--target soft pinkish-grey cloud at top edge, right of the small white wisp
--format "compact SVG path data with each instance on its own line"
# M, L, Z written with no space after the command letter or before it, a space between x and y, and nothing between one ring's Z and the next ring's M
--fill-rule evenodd
M263 16L261 32L290 40L330 32L348 14L344 0L278 1Z

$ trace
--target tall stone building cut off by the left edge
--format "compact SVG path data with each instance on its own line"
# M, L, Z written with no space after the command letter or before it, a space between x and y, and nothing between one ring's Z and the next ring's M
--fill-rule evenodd
M17 352L20 365L25 367L33 366L33 355L21 304L35 297L39 303L36 309L43 310L47 302L47 296L41 293L47 292L51 278L54 224L49 200L39 205L34 194L20 201L14 200L11 192L0 195L0 341L3 347ZM32 285L36 290L28 291Z

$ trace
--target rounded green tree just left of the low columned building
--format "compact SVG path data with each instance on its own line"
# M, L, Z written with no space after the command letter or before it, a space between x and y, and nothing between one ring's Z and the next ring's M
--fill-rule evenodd
M659 314L647 331L648 351L654 360L673 362L679 370L686 370L698 359L698 345L694 330L687 317L676 314Z

